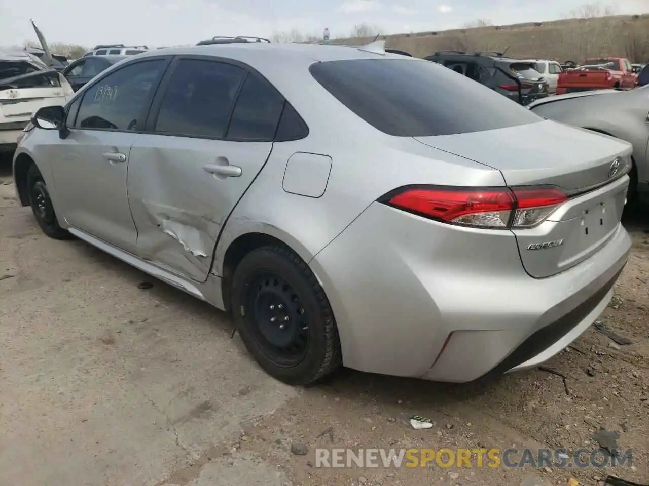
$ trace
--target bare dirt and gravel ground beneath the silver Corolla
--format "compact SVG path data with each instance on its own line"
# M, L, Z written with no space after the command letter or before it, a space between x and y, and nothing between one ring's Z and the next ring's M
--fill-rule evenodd
M43 237L2 170L0 485L649 482L646 216L626 222L633 255L601 319L631 344L591 328L543 369L482 388L343 370L295 389L258 369L225 314L84 242ZM411 415L435 424L413 430ZM600 426L620 432L633 467L314 467L316 447L594 448Z

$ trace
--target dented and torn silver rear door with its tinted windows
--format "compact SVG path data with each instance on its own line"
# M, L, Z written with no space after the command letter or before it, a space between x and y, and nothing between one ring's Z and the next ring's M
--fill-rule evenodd
M205 281L221 227L273 148L284 100L260 76L200 56L177 59L168 77L147 121L153 133L130 152L137 249Z

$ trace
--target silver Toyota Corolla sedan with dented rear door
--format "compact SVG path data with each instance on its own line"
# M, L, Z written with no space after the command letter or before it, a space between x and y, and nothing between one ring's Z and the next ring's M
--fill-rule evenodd
M43 231L231 310L291 384L540 364L630 251L628 143L381 43L150 51L32 123L14 179Z

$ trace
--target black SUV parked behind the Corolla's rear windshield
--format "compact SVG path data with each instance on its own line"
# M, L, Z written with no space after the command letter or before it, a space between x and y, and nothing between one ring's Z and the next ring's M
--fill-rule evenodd
M533 63L508 58L502 52L439 51L424 59L445 65L522 105L548 96L548 82Z

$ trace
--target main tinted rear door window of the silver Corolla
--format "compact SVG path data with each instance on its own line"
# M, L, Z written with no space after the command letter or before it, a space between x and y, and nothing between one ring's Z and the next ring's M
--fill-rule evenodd
M167 87L156 132L222 138L245 71L222 62L183 59Z

